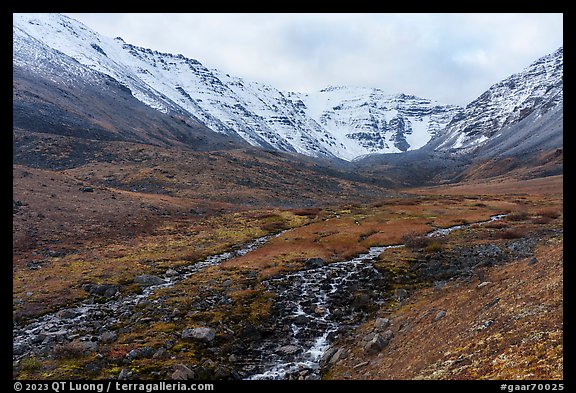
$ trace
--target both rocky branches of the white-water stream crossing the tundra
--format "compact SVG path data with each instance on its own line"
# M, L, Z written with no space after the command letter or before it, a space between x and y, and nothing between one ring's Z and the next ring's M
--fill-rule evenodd
M485 224L505 215L492 216ZM448 233L473 224L439 228L429 237ZM283 232L282 232L283 233ZM13 360L47 354L57 343L79 340L90 343L100 340L100 333L119 321L130 320L137 306L159 288L173 286L192 274L228 259L244 255L280 234L258 238L241 248L211 256L204 261L176 269L165 275L163 282L143 288L142 293L122 296L104 303L93 300L76 307L46 314L25 326L13 327ZM385 288L390 277L384 277L373 261L390 248L402 244L371 247L367 253L351 260L326 264L321 259L307 269L285 274L263 282L274 294L274 321L268 321L274 333L247 343L246 352L238 359L243 379L319 379L320 360L330 343L346 331L361 324L370 307L388 301Z

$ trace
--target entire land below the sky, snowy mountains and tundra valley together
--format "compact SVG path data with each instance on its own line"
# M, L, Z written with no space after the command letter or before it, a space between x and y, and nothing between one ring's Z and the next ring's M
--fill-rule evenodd
M562 48L458 108L13 32L13 379L564 378Z

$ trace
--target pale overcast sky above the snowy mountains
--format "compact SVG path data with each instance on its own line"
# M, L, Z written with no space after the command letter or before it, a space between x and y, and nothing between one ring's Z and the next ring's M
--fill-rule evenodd
M365 86L465 106L563 45L562 14L66 14L286 91Z

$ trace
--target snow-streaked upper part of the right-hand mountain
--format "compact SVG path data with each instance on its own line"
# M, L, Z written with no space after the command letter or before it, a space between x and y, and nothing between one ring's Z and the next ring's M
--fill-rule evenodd
M559 48L524 71L494 84L461 110L433 141L437 151L471 152L505 127L534 113L535 121L563 103L564 51Z

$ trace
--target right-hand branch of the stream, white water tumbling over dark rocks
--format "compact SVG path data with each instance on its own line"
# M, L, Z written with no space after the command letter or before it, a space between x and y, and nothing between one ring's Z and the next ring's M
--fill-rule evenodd
M446 236L452 231L503 217L505 215L500 214L487 221L437 228L426 236ZM320 360L338 333L363 322L366 302L380 305L390 300L382 293L390 278L383 277L372 262L387 249L398 247L404 245L371 247L367 253L349 261L317 266L264 282L276 295L279 324L289 329L259 343L255 352L268 355L266 360L261 359L264 362L257 367L260 371L247 379L319 379ZM354 293L359 290L361 295L355 297Z

